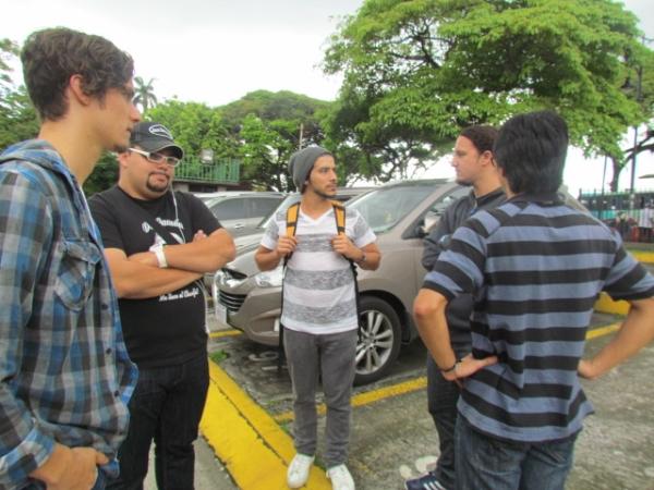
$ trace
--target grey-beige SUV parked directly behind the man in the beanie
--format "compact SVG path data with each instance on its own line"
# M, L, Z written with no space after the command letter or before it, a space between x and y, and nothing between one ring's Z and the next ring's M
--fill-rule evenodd
M421 180L377 187L347 203L375 231L383 256L376 271L359 270L362 330L355 383L382 378L401 344L416 336L411 308L425 274L423 237L445 208L468 192L446 180ZM241 248L216 273L216 316L255 342L277 345L282 269L259 272L254 261L257 246L258 242Z

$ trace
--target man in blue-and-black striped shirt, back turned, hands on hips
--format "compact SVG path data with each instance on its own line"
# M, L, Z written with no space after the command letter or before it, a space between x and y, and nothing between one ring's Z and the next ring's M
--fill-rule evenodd
M508 201L452 235L414 304L443 376L462 384L459 489L564 488L574 440L593 412L580 377L596 378L654 338L654 278L603 223L556 194L568 146L554 112L517 115L494 146ZM620 332L583 360L601 291L631 304ZM445 308L472 293L472 354L457 359Z

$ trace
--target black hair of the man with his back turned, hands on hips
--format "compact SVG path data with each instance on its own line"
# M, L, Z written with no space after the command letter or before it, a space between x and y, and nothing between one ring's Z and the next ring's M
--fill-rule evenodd
M512 193L556 192L564 180L568 125L554 111L535 111L509 119L493 147Z

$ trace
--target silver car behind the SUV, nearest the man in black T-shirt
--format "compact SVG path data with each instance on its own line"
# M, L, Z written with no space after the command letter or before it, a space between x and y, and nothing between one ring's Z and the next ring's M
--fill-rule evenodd
M238 192L197 194L232 236L252 233L284 198L282 193Z

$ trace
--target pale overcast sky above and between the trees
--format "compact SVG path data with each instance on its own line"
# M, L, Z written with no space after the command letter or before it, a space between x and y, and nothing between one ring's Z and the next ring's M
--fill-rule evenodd
M68 26L111 39L135 60L136 75L155 78L157 97L222 106L257 90L292 90L334 100L340 77L319 64L327 40L362 0L14 0L3 5L0 37L22 44L33 30ZM653 0L627 0L654 38ZM652 45L651 45L652 46ZM14 78L20 78L14 74ZM579 157L572 156L573 159ZM598 187L602 166L572 172L572 189ZM439 166L440 167L440 166ZM447 166L445 166L447 167ZM446 171L446 169L445 169ZM637 175L654 173L643 159ZM628 174L628 172L623 172ZM622 176L625 179L625 176ZM628 181L627 176L627 181ZM650 180L654 187L654 180Z

